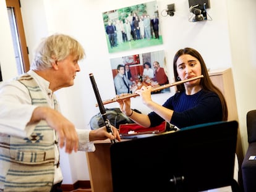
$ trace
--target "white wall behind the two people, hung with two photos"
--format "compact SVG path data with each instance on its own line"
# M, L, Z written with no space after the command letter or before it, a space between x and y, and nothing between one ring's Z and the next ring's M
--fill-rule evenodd
M213 20L192 23L188 20L189 4L187 0L157 1L160 12L161 32L164 44L150 48L137 49L116 54L108 54L103 27L102 12L118 9L134 4L140 0L111 1L111 0L21 0L23 23L30 49L30 62L33 58L33 49L38 41L51 33L67 33L74 36L85 48L87 58L80 63L81 72L77 74L75 85L58 91L62 113L75 123L77 128L89 128L90 118L95 115L95 94L88 78L92 72L95 76L101 98L114 97L113 77L109 59L123 55L152 52L164 49L168 67L168 76L173 77L174 53L187 46L197 49L205 59L210 69L232 67L236 87L237 108L239 111L239 125L243 139L244 151L247 149L247 132L245 114L249 109L256 108L254 99L255 82L255 2L254 0L210 0L211 8L208 10ZM2 1L0 9L2 10ZM167 4L175 3L174 17L163 17L161 11ZM4 4L3 4L4 6ZM244 14L241 6L246 9ZM0 14L2 11L0 10ZM7 14L1 15L0 23L7 22ZM6 27L7 28L7 27ZM4 36L4 37L3 37ZM1 32L0 40L11 41L9 30ZM0 44L2 47L2 43ZM7 49L4 49L5 51ZM8 49L12 53L12 48ZM0 49L0 62L2 68L15 70L10 67L11 56L2 61L2 48ZM6 51L7 52L7 51ZM5 57L3 57L5 58ZM6 75L6 74L3 74ZM8 78L12 74L8 75ZM4 79L7 77L4 76ZM171 93L173 94L173 92ZM156 101L163 103L170 94L153 95ZM106 107L118 107L116 103ZM140 103L140 98L133 98L132 107L142 112L148 109ZM77 180L89 180L87 161L84 152L67 155L61 152L61 166L64 170L64 184L74 183Z

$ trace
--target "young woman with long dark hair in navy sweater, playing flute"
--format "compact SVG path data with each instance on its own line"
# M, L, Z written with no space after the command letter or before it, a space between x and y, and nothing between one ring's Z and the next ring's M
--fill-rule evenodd
M121 111L143 127L155 127L164 120L178 128L200 123L228 119L226 101L221 91L210 80L202 56L192 48L180 49L173 61L174 78L183 81L203 75L203 78L177 85L177 93L160 105L151 99L151 86L135 91L143 104L151 109L149 114L139 114L130 109L130 98L117 99ZM122 95L121 95L122 97Z

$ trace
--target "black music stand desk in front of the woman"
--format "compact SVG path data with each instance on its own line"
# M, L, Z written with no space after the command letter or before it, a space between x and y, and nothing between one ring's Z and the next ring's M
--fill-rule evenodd
M204 191L232 186L237 122L182 128L111 144L113 192Z

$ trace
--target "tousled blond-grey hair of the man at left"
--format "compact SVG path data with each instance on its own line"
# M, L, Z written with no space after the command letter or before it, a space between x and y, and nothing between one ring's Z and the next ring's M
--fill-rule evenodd
M80 60L85 56L85 51L77 40L68 35L54 34L48 36L41 41L36 49L30 69L44 70L51 68L53 62L62 61L70 54Z

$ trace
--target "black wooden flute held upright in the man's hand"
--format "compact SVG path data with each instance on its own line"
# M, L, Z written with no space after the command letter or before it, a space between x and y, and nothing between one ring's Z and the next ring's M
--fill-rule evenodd
M92 86L93 86L93 90L94 90L94 93L95 93L95 96L96 96L96 99L97 99L97 102L98 102L98 106L100 108L101 117L103 118L105 126L106 126L106 130L109 133L113 134L113 130L111 128L111 123L109 122L109 119L106 115L106 109L105 109L105 107L103 105L103 102L101 100L100 93L98 91L98 87L97 87L95 79L93 77L93 73L90 73L89 76L90 76L90 80L92 82ZM116 143L116 140L115 139L111 140L111 143Z

